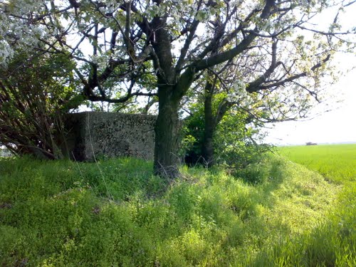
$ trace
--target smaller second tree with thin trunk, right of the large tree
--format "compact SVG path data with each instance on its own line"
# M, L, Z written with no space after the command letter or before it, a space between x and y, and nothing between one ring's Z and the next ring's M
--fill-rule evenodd
M276 47L276 43L272 43L272 50ZM258 83L257 80L253 80L247 85L244 80L251 80L251 72L245 71L241 73L239 66L246 65L246 58L251 57L248 54L244 57L235 58L234 61L228 61L222 66L217 66L206 71L199 83L197 83L195 95L189 95L187 103L193 103L193 107L187 107L184 110L190 114L192 118L187 120L187 127L190 132L194 133L196 144L194 149L190 150L188 160L190 163L202 163L206 167L211 167L216 162L214 157L215 147L219 147L218 144L214 144L216 141L216 130L219 127L221 120L228 115L229 117L235 116L236 130L231 126L229 132L233 132L232 135L219 132L221 136L229 136L229 142L226 142L226 138L218 138L219 141L224 142L226 145L246 140L251 141L251 133L243 134L245 125L253 124L255 128L261 128L267 122L280 122L286 120L297 120L305 117L313 100L319 101L320 93L317 94L318 88L313 90L315 97L310 98L310 93L303 94L302 91L294 91L291 95L296 98L277 94L271 97L268 95L268 91L260 91L246 94L246 87L251 84ZM253 68L253 66L251 66ZM246 69L247 70L247 69ZM299 88L303 88L299 86ZM288 89L285 89L288 91ZM266 95L267 93L267 95ZM305 92L304 92L305 93ZM277 101L273 101L273 98ZM268 101L266 101L266 99ZM201 103L199 105L199 103ZM198 109L196 108L198 106ZM200 108L204 108L201 112ZM193 109L193 110L192 110ZM195 114L197 113L197 114ZM225 130L226 125L223 126ZM197 128L199 130L195 130ZM197 132L199 131L199 133ZM258 131L257 131L258 132ZM242 134L242 135L241 135ZM246 137L248 137L246 139ZM258 148L257 145L255 145ZM224 147L219 147L219 150L224 150ZM221 155L221 153L219 153Z

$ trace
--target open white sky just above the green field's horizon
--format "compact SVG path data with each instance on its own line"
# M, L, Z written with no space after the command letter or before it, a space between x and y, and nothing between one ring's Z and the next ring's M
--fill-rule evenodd
M350 61L356 64L356 56ZM268 129L265 141L274 145L303 145L305 142L316 143L356 143L356 69L347 73L330 90L340 91L341 103L337 103L330 112L313 115L310 120L298 122L279 122Z

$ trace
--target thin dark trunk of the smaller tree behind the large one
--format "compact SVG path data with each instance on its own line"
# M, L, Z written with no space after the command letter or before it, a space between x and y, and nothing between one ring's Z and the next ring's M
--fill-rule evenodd
M214 165L214 145L213 136L216 129L215 116L212 108L212 85L206 84L205 88L205 100L204 100L204 136L201 144L201 157L206 167Z

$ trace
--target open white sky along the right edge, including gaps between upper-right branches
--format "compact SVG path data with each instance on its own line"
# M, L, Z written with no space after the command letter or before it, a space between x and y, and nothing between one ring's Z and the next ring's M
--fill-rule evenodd
M342 14L342 25L346 28L355 27L355 14L356 4L353 4L346 14ZM318 20L319 24L329 25L330 14L323 14ZM273 145L303 145L305 142L356 143L356 53L338 54L335 67L346 74L327 88L330 94L337 95L337 98L328 100L333 109L316 115L320 113L318 110L326 110L321 104L310 110L308 120L279 122L274 127L267 125L266 142ZM336 103L336 100L341 100L341 103Z

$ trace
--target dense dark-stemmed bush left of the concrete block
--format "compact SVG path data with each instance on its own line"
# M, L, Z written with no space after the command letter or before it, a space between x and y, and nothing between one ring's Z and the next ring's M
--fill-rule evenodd
M0 68L0 145L16 154L61 157L63 114L77 108L73 62L66 56L19 55Z

